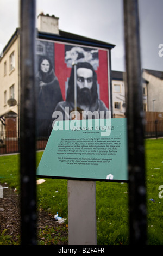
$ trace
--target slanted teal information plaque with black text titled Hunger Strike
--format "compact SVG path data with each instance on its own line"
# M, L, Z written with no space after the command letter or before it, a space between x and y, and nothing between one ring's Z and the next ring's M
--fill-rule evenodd
M127 181L127 119L57 121L37 176Z

